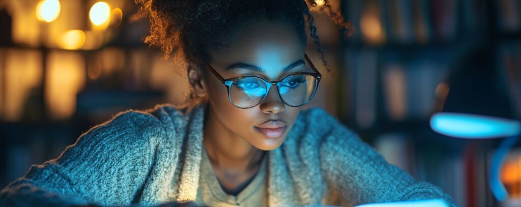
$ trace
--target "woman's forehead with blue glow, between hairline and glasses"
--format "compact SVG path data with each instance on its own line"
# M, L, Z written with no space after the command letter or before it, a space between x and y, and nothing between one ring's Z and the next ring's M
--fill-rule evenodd
M234 63L255 65L268 78L276 78L282 70L299 59L304 59L305 46L291 26L282 22L259 21L239 29L231 44L210 52L212 66L225 75L237 75L244 70L224 70ZM230 77L225 77L230 78Z

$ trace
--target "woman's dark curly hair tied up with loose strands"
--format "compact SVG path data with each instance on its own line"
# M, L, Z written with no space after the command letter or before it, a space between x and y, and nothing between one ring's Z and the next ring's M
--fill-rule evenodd
M265 18L279 20L294 27L299 38L307 44L309 34L316 44L322 65L331 74L333 69L327 64L314 18L311 11L325 13L337 25L350 29L341 14L335 12L330 0L135 0L140 5L139 17L150 22L150 35L143 42L158 46L168 59L173 53L174 60L181 58L187 70L195 69L202 77L205 63L210 61L209 49L218 50L228 46L229 37L247 23ZM306 27L307 22L307 27ZM347 31L347 30L346 30ZM187 72L188 74L188 72ZM192 82L191 84L192 85ZM184 106L200 102L190 88ZM182 106L181 106L182 107Z

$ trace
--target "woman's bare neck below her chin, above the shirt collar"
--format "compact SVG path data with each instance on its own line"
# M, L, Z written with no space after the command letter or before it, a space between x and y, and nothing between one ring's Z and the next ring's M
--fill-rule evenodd
M214 168L228 172L256 171L264 151L236 135L217 118L211 104L205 113L203 143Z

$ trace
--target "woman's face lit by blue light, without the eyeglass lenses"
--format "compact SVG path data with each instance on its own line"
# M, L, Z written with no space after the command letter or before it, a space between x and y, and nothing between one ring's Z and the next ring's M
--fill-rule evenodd
M305 64L304 50L305 45L292 27L258 21L240 29L229 47L210 52L212 61L208 64L225 79L257 76L280 81L293 72L311 70ZM213 111L210 113L215 114L222 126L257 149L274 150L282 144L301 107L285 105L277 86L272 86L266 99L257 106L235 107L228 99L225 85L209 71L207 74L204 82Z

